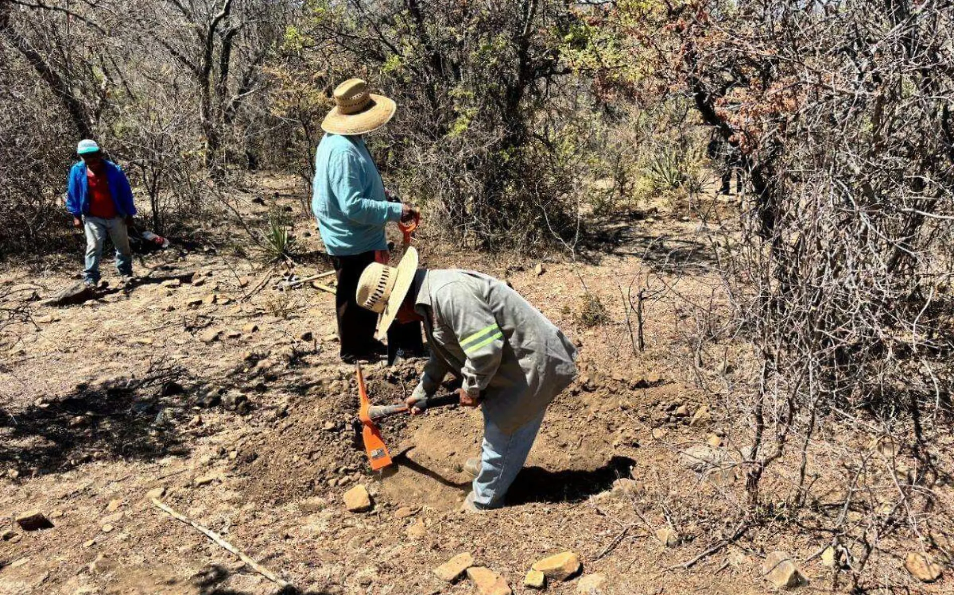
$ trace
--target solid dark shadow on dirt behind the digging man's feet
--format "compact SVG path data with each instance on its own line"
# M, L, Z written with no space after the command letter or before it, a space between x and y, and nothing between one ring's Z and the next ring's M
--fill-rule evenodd
M612 482L630 477L635 462L629 457L613 457L593 470L549 471L542 467L524 467L510 486L508 504L574 503L605 492Z

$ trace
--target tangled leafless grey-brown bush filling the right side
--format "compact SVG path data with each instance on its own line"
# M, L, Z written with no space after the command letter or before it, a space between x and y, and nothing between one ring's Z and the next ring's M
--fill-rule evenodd
M757 363L724 400L750 424L745 515L813 525L846 548L851 585L871 585L872 556L929 550L951 526L937 487L954 379L954 8L629 8L646 24L628 30L634 51L661 56L654 80L687 93L752 181L736 219L711 221L725 303L696 304L690 333L700 351L743 340ZM878 437L901 447L869 449Z

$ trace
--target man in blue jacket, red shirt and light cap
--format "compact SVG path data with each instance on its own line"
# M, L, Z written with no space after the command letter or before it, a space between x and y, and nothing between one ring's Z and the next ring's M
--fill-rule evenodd
M84 139L76 146L81 161L73 165L67 182L66 208L73 214L73 227L86 233L86 269L83 282L99 283L99 260L106 236L116 249L116 270L123 282L133 277L133 252L128 226L133 224L135 204L126 174L103 158L96 141Z

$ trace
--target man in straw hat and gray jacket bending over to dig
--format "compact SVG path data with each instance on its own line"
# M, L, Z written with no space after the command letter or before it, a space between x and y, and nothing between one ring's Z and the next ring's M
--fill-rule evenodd
M434 394L447 372L463 380L461 405L481 405L481 458L464 503L471 512L499 507L523 467L547 406L576 376L576 349L560 329L517 292L472 271L418 269L409 248L397 267L372 263L357 300L381 315L379 337L397 319L424 322L431 358L407 399Z

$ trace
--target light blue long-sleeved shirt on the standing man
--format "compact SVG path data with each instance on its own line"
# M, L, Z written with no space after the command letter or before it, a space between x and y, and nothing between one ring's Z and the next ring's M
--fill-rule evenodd
M327 133L321 138L311 210L328 254L385 250L384 225L400 220L401 208L384 197L384 181L361 136Z

